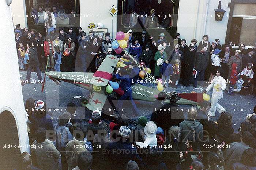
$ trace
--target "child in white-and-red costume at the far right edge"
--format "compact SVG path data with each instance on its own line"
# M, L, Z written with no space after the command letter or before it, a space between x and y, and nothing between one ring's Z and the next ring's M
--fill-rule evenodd
M242 84L241 94L246 95L249 92L249 87L251 86L251 80L253 78L253 70L252 70L253 64L248 63L247 67L242 70L240 73L241 79L244 81Z

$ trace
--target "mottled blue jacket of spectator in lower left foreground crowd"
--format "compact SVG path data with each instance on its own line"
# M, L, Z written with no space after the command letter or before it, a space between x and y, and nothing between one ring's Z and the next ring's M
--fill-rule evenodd
M72 126L71 123L66 123L64 126L59 126L59 124L56 124L55 126L56 148L59 151L65 151L68 141L73 139L73 136L69 131L70 126Z

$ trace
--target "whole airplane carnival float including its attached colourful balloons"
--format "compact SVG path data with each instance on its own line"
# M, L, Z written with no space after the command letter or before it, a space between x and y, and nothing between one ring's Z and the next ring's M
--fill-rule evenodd
M127 33L124 33L127 34ZM125 35L127 37L127 35ZM128 37L127 37L128 38ZM123 43L126 43L125 38ZM121 51L125 51L124 47L127 44L121 44L122 42L115 40L116 44L112 43L112 47L118 46L117 54L120 54ZM122 48L120 50L120 47ZM114 48L115 49L115 48ZM136 78L138 83L134 83L132 88L132 98L137 100L144 100L154 102L157 99L159 92L163 91L166 92L167 95L173 94L172 92L167 92L161 80L155 79L152 74L150 74L151 70L147 69L146 67L141 66L138 62L138 59L133 57L132 55L128 54L127 51L125 53L128 55L128 59L119 58L114 55L107 55L97 71L95 73L92 72L46 72L45 75L49 76L56 84L60 84L61 81L68 82L75 84L76 86L85 88L90 91L89 99L81 98L80 103L82 106L86 106L89 110L102 110L108 96L111 96L115 90L120 89L117 80L113 80L112 75L116 73L116 68L125 67L125 62L132 62L135 67L138 67L140 72L138 78ZM47 66L46 66L47 67ZM137 69L138 69L137 68ZM150 71L149 71L150 70ZM113 81L111 81L113 80ZM140 83L140 80L146 80L149 83ZM143 82L143 81L142 81ZM42 91L44 89L44 82L42 84ZM113 90L114 89L114 90ZM210 97L207 94L203 93L178 93L179 100L176 104L185 104L185 105L192 105L196 106L198 102L203 100L209 100ZM110 97L109 97L110 98ZM108 99L109 99L108 98ZM168 102L168 100L167 100ZM111 101L110 101L111 104ZM112 104L112 107L113 104Z

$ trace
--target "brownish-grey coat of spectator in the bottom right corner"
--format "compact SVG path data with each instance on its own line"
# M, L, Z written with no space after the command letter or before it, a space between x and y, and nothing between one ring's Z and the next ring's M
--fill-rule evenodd
M225 169L231 169L235 162L239 162L242 153L250 148L244 142L233 142L229 144L230 147L226 148L223 152L225 158Z

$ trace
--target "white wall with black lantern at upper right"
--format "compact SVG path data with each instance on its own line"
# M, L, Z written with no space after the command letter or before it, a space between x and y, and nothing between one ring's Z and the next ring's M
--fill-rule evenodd
M230 8L227 7L229 2L231 0L222 0L221 2L221 8L226 11L225 15L229 15ZM224 44L228 18L225 16L222 21L215 21L214 9L218 8L218 4L218 0L209 0L209 17L206 17L207 0L180 0L177 32L181 34L181 39L186 39L187 43L190 43L193 38L202 41L202 36L205 33L209 36L210 42L218 38L221 44Z

